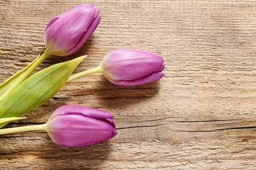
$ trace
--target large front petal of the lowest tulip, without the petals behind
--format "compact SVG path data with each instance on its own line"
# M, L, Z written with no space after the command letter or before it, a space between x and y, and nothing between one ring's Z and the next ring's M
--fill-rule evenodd
M46 130L50 138L63 147L94 145L117 135L109 123L83 115L58 116L48 123Z

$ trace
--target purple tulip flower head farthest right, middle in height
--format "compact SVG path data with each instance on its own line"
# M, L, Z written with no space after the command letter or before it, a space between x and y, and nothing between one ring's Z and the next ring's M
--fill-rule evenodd
M117 49L103 58L100 72L118 86L136 86L161 79L164 67L164 60L154 52Z

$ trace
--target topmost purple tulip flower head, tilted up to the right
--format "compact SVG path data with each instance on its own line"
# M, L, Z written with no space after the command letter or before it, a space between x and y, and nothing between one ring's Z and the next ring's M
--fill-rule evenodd
M100 9L90 4L75 6L53 18L45 30L50 55L72 55L85 44L100 23Z

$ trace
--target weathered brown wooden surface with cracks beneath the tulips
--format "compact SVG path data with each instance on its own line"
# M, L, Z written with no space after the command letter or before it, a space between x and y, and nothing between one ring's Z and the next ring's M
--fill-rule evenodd
M256 1L0 0L0 81L45 47L48 21L82 3L102 21L70 57L50 56L37 70L88 55L75 72L96 67L119 47L157 52L158 82L111 84L102 74L65 84L16 127L45 123L56 108L79 104L115 115L118 135L64 148L46 132L0 138L0 169L256 169Z

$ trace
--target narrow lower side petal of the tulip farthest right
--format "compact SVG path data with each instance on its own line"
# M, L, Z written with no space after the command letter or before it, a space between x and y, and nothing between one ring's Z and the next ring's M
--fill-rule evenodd
M116 84L118 86L137 86L141 84L147 84L150 82L158 81L161 79L161 77L164 77L163 72L158 72L158 73L153 73L150 74L149 76L142 77L140 79L135 79L131 81L111 81L113 84Z

